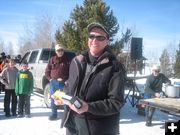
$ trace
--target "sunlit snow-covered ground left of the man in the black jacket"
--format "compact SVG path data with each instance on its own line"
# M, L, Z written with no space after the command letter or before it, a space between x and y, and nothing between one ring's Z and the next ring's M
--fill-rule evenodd
M49 121L50 109L46 108L41 96L31 97L31 118L6 118L3 112L3 94L0 94L0 135L65 135L60 129L62 111L59 120Z

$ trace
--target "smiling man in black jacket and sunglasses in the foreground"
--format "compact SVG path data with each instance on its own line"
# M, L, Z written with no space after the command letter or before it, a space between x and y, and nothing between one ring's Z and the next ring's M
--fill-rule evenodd
M124 104L125 70L108 46L107 29L100 23L91 23L87 32L89 49L72 60L64 89L80 105L66 103L62 126L67 135L117 135Z

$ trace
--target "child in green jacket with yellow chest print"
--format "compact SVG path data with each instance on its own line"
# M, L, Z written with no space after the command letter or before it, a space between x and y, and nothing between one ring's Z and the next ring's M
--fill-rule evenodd
M15 92L19 96L17 117L23 117L23 110L25 110L25 117L30 118L30 97L33 92L33 75L28 70L27 62L21 63L21 70L18 72L16 78Z

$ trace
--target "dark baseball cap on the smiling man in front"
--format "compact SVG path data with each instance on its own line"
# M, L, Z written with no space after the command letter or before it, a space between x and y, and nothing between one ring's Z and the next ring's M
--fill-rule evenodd
M97 22L90 23L90 24L87 26L88 32L90 33L91 30L92 30L93 28L95 28L95 27L102 29L102 30L106 33L107 38L109 39L109 33L108 33L108 31L107 31L106 28L105 28L102 24L100 24L100 23L97 23Z

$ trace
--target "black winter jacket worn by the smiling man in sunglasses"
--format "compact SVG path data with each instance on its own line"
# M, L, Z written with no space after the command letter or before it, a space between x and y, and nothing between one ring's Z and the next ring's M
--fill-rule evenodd
M100 135L101 131L119 127L119 112L124 104L125 70L106 49L94 63L89 77L84 78L88 57L88 52L85 52L72 60L65 92L88 103L88 112L82 116L88 120L92 134ZM69 114L72 112L67 109L61 126L69 126Z

